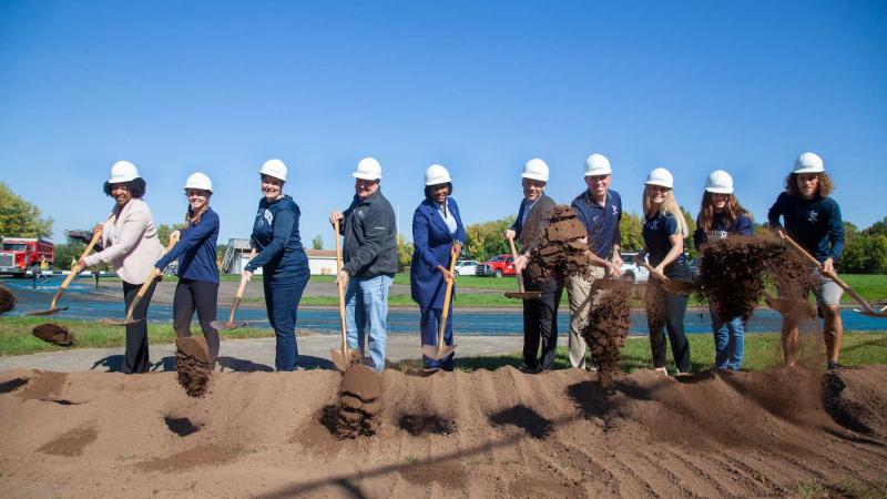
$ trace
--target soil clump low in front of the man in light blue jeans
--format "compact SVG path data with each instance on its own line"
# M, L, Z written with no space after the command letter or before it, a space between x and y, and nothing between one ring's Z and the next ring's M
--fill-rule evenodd
M320 422L336 438L368 437L376 434L376 416L381 409L381 376L363 365L345 371L339 386L339 404L326 406Z

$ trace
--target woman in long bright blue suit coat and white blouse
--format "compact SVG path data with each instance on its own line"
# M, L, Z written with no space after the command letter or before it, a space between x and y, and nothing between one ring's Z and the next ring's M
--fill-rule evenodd
M449 272L450 251L456 255L465 245L465 225L459 216L459 206L450 198L452 180L443 166L432 164L425 171L425 201L412 214L412 264L409 284L412 299L419 304L419 327L422 345L437 346L438 327L443 314L443 295ZM453 289L455 293L455 289ZM452 303L450 303L452 312ZM452 314L447 315L443 343L452 345ZM422 356L426 369L452 370L452 354L436 360Z

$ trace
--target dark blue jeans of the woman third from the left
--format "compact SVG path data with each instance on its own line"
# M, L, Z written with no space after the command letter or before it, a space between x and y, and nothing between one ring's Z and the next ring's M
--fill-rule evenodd
M272 273L273 274L273 273ZM287 273L289 274L289 273ZM268 322L277 338L274 367L277 370L296 370L298 344L296 343L296 315L302 293L308 285L308 269L282 278L279 275L264 275L265 309Z

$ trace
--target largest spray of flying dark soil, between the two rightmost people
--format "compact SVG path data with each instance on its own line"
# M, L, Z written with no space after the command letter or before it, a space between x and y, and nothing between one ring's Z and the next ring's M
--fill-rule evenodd
M702 256L697 284L721 317L748 320L768 279L779 292L781 313L808 315L802 297L813 284L810 265L778 240L727 237L706 245Z

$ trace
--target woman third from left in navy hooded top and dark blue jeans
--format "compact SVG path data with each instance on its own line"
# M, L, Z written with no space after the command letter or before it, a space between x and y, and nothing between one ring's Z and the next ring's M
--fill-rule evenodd
M262 267L265 309L277 337L274 366L277 370L296 370L296 313L310 277L308 256L298 234L300 212L296 202L283 192L286 182L283 161L268 160L258 173L265 197L258 202L252 245L259 252L246 264L243 276L248 279Z

